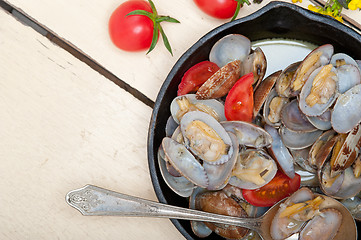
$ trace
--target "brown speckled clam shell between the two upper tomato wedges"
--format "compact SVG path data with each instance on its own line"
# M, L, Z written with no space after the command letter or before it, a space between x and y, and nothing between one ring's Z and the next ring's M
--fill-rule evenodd
M227 63L205 81L196 93L197 99L225 96L241 76L241 61Z

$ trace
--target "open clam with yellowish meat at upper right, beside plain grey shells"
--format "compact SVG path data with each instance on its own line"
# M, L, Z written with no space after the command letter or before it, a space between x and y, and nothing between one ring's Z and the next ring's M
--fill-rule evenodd
M304 84L299 107L307 116L319 116L329 109L338 96L338 77L331 64L317 68Z

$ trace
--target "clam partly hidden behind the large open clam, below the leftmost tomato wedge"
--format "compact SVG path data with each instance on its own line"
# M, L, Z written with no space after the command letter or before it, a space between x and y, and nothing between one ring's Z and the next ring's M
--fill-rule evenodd
M216 99L198 100L195 94L186 94L173 99L170 112L176 123L179 124L184 114L190 111L205 112L217 121L225 121L224 105Z

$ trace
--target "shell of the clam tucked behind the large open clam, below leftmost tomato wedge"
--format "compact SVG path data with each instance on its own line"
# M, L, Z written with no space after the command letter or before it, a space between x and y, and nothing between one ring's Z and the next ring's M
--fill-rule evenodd
M178 104L179 100L182 100L183 98L188 99L190 104L194 105L196 109L192 108L189 111L206 111L206 113L211 113L212 116L215 116L215 119L217 121L225 121L226 117L224 115L224 105L220 101L216 99L197 99L196 94L186 94L182 96L178 96L173 99L173 101L170 104L170 112L171 115L176 123L179 124L179 111L180 107ZM184 112L185 114L185 112Z

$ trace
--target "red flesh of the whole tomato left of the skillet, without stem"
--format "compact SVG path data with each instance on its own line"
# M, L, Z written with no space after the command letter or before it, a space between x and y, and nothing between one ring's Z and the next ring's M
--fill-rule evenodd
M149 2L126 1L112 13L109 19L109 35L113 43L125 51L148 49L152 43L153 21L143 15L125 16L134 10L152 13Z

